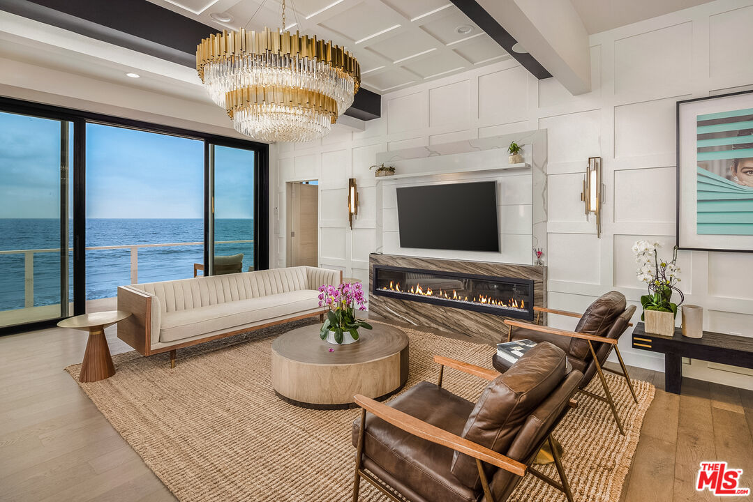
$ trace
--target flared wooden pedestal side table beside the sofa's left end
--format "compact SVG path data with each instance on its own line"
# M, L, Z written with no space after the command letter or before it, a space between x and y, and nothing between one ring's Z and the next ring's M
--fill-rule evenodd
M110 348L105 338L105 327L123 321L130 315L130 312L109 310L107 312L77 315L57 323L59 327L70 327L74 330L87 330L89 332L87 350L84 352L84 362L81 363L81 373L78 376L79 382L97 382L115 374Z

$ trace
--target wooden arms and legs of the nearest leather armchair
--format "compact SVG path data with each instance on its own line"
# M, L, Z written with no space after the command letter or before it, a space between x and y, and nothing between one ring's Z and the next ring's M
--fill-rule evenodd
M489 381L492 381L499 376L498 371L488 370L486 368L475 366L474 364L464 363L462 361L456 361L454 359L450 359L449 357L435 355L434 362L440 365L439 378L437 379L437 386L439 387L442 386L444 367L446 366ZM377 415L377 417L382 418L389 424L392 424L409 434L413 434L413 436L420 437L423 440L431 441L431 443L437 443L441 446L447 446L447 448L453 449L456 452L464 453L465 455L469 455L476 459L476 468L478 469L479 477L481 480L481 488L483 489L484 500L486 500L487 502L495 502L495 498L492 495L491 488L489 488L489 480L486 478L486 473L483 470L483 462L486 462L486 464L492 464L493 466L500 469L507 470L508 472L520 477L526 476L526 473L531 473L538 479L541 479L542 481L547 482L547 484L552 485L554 488L557 488L559 491L562 491L562 493L564 493L567 497L567 500L569 502L573 502L570 485L565 473L565 468L562 466L562 458L560 458L559 452L553 445L551 432L550 434L547 434L547 436L545 436L543 440L541 440L541 442L533 450L533 455L530 456L526 464L523 464L520 461L514 460L513 458L509 458L505 455L502 455L501 453L495 452L492 449L486 448L486 446L481 446L478 443L466 440L465 438L459 437L456 434L444 431L444 429L441 429L440 427L436 427L426 421L422 421L419 418L401 412L399 409L391 408L384 403L380 403L379 401L375 401L368 397L362 396L361 394L357 394L354 400L355 403L358 404L358 406L361 406L361 426L358 429L358 446L356 446L355 454L355 475L353 479L352 502L358 502L358 491L361 486L361 478L365 479L367 482L373 485L374 488L377 488L377 490L389 497L390 500L394 500L394 502L404 502L403 499L396 497L395 494L392 493L392 491L386 488L385 484L381 482L380 479L377 478L377 476L374 476L372 473L364 470L361 467L364 452L366 412ZM557 420L554 422L551 430L553 430L557 426L557 424L559 424L559 421L562 420L568 409L576 407L578 407L578 402L573 399L569 400L568 406L565 407ZM550 449L552 451L554 464L556 466L557 473L559 474L559 479L561 480L561 482L556 482L546 474L541 473L540 471L535 470L533 467L531 467L531 464L536 458L536 453L538 453L538 450L541 449L541 446L543 446L544 443L547 442L549 443Z

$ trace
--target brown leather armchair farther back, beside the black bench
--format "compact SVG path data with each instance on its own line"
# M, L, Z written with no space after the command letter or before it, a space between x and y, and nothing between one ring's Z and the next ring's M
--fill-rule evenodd
M617 347L617 342L619 342L622 333L625 332L628 326L632 326L630 318L636 312L636 307L633 305L627 306L623 294L618 291L610 291L591 303L583 315L564 310L544 309L542 307L534 307L534 310L539 315L547 312L553 315L580 318L580 321L578 321L575 331L566 331L506 319L505 324L510 327L508 341L529 339L534 342L550 342L566 351L570 364L576 370L583 373L583 379L580 385L578 385L578 391L608 403L612 415L614 415L614 421L617 422L620 433L624 435L625 431L622 427L620 417L617 415L617 408L614 406L614 399L612 399L603 371L606 370L625 377L627 385L630 387L630 392L633 394L633 400L638 403L636 391L633 389L633 383L630 382L630 376L622 360L622 354L620 354L620 349ZM623 373L603 367L613 348L614 353L617 354L617 359L620 361ZM497 357L496 354L493 357L493 364L497 370L503 373L510 367L507 361ZM602 382L605 396L599 396L585 390L595 375L598 375L599 380Z

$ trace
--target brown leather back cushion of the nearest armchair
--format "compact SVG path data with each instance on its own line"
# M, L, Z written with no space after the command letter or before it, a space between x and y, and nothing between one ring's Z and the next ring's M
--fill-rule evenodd
M504 454L528 415L565 377L565 366L565 351L549 342L527 351L510 370L489 382L462 437ZM490 475L493 467L485 467ZM480 487L474 458L455 452L452 472L469 488Z

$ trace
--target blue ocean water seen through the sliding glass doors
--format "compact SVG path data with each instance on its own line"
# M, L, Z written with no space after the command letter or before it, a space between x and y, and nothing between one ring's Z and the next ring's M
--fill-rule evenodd
M203 241L201 219L88 219L87 248L115 245L177 244ZM253 219L218 219L215 241L254 239ZM72 223L70 227L72 228ZM59 248L59 220L0 218L0 251ZM72 240L69 242L72 245ZM215 253L243 253L243 270L254 264L254 243L216 245ZM194 276L203 262L203 245L139 248L139 282ZM34 254L34 305L59 303L60 255ZM72 278L73 256L69 256ZM87 250L87 300L114 297L117 286L130 284L130 249ZM24 306L24 254L0 254L0 310ZM72 279L69 294L73 297Z

